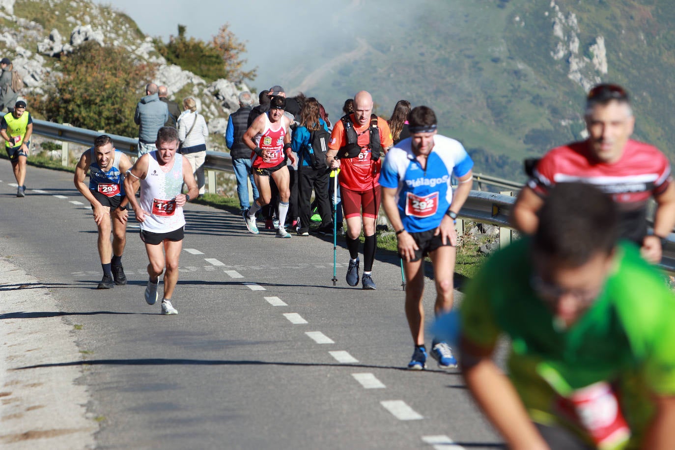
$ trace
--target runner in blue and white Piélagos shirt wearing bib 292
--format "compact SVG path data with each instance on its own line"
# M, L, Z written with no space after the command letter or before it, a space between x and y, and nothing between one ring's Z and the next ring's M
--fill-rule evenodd
M473 161L460 142L437 134L429 107L410 111L410 138L387 152L380 184L382 204L396 230L398 253L406 274L406 317L415 349L408 368L426 367L424 342L424 257L433 263L436 316L452 309L457 233L454 223L472 186ZM450 178L458 179L454 195ZM434 339L431 356L441 368L457 361L448 343Z

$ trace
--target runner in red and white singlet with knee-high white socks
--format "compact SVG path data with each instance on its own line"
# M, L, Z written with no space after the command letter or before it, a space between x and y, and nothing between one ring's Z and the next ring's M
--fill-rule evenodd
M258 234L255 223L255 213L269 204L272 197L269 186L269 177L274 179L279 188L279 227L277 237L291 237L284 228L288 214L288 199L290 198L290 174L286 167L286 158L295 162L291 150L291 119L284 115L286 99L283 96L272 97L269 111L259 115L244 134L242 141L252 151L253 177L258 186L260 197L256 198L248 211L243 212L246 228L253 234Z

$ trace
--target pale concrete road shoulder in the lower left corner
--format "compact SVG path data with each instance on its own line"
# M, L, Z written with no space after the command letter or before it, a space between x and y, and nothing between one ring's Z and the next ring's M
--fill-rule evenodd
M57 302L38 279L0 258L0 447L85 449L99 425L88 416L81 360ZM86 369L85 369L86 370Z

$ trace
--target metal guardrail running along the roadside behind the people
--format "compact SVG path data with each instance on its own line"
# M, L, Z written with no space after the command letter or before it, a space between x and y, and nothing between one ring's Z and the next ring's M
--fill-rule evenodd
M33 120L33 133L39 136L45 136L63 142L72 142L84 146L91 146L94 139L100 132L85 130L84 128L71 127L60 123L54 123L44 120ZM136 157L138 154L138 139L119 136L118 134L108 134L115 142L115 148L121 150L130 156ZM234 173L232 168L232 159L229 153L207 151L207 157L204 164L206 169L215 171L225 171ZM475 173L474 179L479 183L491 184L511 190L520 190L522 184L516 181L510 181L499 177L491 177L482 173ZM502 239L510 239L510 221L511 210L516 201L512 196L503 194L494 194L492 192L483 192L472 190L464 207L460 211L460 217L497 225L504 229L506 233L500 232ZM668 237L668 242L664 248L664 256L661 260L661 269L669 272L675 272L675 234Z

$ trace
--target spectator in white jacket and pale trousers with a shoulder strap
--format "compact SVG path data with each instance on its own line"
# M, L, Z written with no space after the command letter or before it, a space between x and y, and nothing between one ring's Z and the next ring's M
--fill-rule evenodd
M207 156L206 139L209 129L204 116L197 113L197 105L192 97L183 101L185 111L178 117L178 138L180 153L190 162L199 187L198 199L204 196L204 160Z

